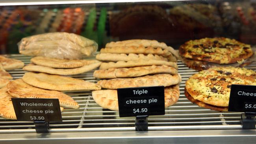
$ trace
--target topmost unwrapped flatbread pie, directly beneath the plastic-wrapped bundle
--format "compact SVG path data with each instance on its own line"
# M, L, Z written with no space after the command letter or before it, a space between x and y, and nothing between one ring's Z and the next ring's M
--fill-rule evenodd
M55 58L41 57L41 56L33 57L30 61L36 65L47 66L51 68L77 68L84 65L91 65L93 63L100 62L97 60L85 60L85 59L69 60L69 59L55 59Z

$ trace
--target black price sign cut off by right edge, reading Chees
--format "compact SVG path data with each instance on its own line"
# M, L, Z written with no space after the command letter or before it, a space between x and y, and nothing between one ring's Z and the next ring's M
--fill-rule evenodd
M228 111L256 112L256 85L231 85Z

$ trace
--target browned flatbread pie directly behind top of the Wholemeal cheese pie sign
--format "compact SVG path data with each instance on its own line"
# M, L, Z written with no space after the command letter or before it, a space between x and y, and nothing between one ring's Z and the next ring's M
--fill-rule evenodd
M16 98L58 98L59 105L78 109L79 105L70 96L55 90L45 90L33 87L22 79L15 79L7 84L7 90L11 96Z

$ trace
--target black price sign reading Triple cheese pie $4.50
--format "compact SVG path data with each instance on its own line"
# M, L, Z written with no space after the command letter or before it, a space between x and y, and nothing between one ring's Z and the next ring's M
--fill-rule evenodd
M119 116L164 115L164 87L117 89Z

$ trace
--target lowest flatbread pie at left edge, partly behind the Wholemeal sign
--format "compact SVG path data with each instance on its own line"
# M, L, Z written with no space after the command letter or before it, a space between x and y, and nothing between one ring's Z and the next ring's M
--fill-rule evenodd
M0 89L0 116L7 119L16 120L17 118L11 98L15 97L8 93L7 87ZM63 111L63 107L60 107L60 110Z

